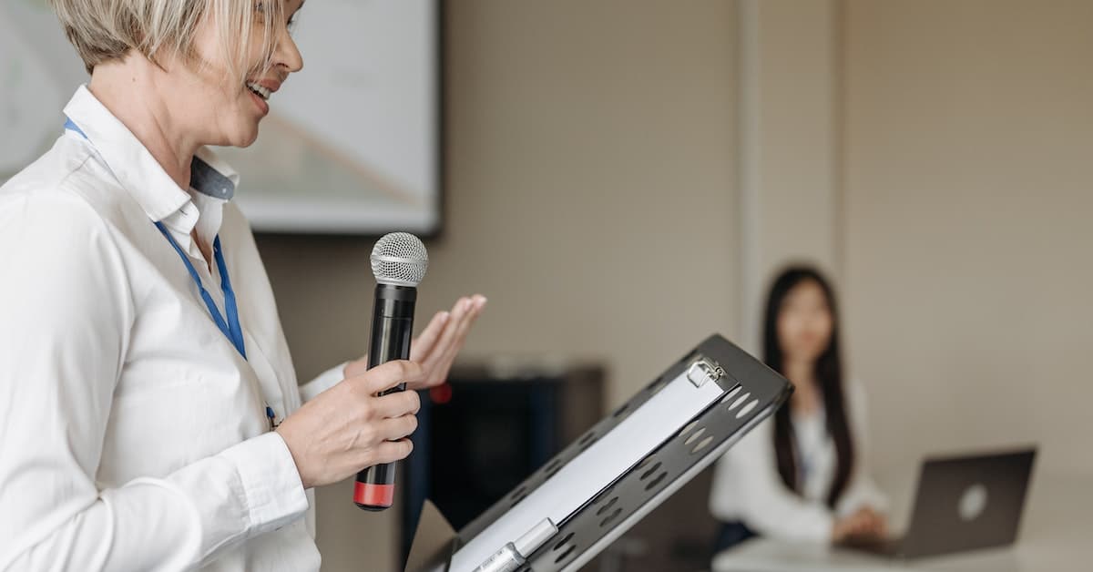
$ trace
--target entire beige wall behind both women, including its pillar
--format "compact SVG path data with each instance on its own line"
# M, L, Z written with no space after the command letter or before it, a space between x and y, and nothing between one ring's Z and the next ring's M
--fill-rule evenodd
M880 472L1037 441L1042 469L1093 474L1093 3L449 12L449 210L422 315L490 295L468 354L600 357L614 405L706 332L747 329L745 290L811 258L841 277ZM738 24L759 68L737 69ZM740 129L738 89L762 114ZM371 243L260 245L302 376L360 352ZM393 513L348 498L319 492L326 570L390 569Z

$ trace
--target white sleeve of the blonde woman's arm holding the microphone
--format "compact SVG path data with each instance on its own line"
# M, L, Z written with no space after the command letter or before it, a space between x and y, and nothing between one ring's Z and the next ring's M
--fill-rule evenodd
M106 223L57 191L0 196L0 570L183 570L304 515L277 433L160 478L96 472L134 304Z

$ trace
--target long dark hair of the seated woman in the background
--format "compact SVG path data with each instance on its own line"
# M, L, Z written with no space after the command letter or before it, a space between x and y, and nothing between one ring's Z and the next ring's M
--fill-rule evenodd
M835 442L837 464L835 478L832 481L831 491L827 493L827 505L834 507L850 480L850 470L854 467L854 442L850 439L849 419L843 392L843 361L838 350L839 328L835 292L832 290L831 283L814 268L787 268L778 275L771 285L771 293L766 300L766 318L763 323L763 361L774 371L785 375L785 358L778 341L778 314L781 312L783 303L789 292L807 281L815 282L823 290L832 317L831 340L816 360L813 373L820 392L823 394L827 434ZM778 474L790 490L800 493L801 483L797 475L796 450L797 444L790 423L789 407L783 407L774 416L774 451L778 460Z

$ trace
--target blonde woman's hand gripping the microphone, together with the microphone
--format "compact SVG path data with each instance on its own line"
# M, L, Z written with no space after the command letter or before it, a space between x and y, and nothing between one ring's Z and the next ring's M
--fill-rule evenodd
M408 383L424 378L421 365L407 361L413 330L416 285L428 256L416 236L392 233L372 252L376 276L368 369L348 375L308 401L277 429L305 488L337 482L362 467L354 501L383 510L395 495L396 460L413 448L406 439L418 428L421 401ZM346 472L346 469L350 469Z

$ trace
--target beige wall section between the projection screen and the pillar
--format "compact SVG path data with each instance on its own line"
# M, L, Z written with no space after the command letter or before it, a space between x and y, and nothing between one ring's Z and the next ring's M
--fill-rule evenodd
M448 3L447 230L419 315L487 294L468 354L600 357L612 406L736 331L732 3L683 5ZM362 351L371 243L260 244L301 375ZM319 491L325 570L389 569L393 520L349 491Z

